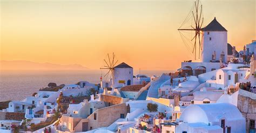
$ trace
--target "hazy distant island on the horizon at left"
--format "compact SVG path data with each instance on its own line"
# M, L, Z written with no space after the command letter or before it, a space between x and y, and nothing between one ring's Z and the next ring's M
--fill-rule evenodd
M80 64L60 65L31 61L0 61L1 70L87 70Z

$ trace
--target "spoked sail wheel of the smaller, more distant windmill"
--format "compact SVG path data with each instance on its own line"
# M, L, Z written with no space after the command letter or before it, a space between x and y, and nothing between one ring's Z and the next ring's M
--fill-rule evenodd
M114 65L117 64L118 60L115 61L115 57L116 55L114 55L114 53L112 54L112 57L109 56L109 54L107 54L107 61L104 59L104 62L105 62L105 65L103 68L100 68L100 69L103 69L103 70L108 70L104 77L106 77L105 79L108 79L109 75L110 75L110 78L112 77L112 87L114 85L114 75L113 75L113 71L114 71ZM112 89L113 90L113 89Z

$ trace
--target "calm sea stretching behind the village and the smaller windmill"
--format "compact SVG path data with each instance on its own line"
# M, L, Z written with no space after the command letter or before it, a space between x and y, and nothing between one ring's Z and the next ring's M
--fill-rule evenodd
M141 74L148 76L160 76L161 73L170 72L169 70L140 70ZM85 71L1 71L0 72L0 101L22 100L26 96L37 92L39 88L46 87L48 83L76 84L79 81L86 80L90 83L98 84L99 78L105 72L100 70ZM139 73L134 70L134 75Z

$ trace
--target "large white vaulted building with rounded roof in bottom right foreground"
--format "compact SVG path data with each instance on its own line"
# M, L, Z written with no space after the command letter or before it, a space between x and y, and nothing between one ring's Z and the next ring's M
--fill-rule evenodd
M179 119L176 132L245 132L245 118L232 104L190 105Z

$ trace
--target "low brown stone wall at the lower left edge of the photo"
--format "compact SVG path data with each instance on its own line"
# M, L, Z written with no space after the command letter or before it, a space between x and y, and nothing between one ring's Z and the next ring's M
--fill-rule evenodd
M1 120L24 120L25 113L19 112L0 112Z

